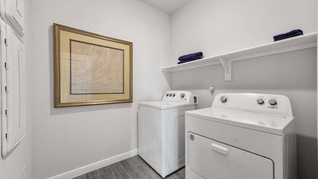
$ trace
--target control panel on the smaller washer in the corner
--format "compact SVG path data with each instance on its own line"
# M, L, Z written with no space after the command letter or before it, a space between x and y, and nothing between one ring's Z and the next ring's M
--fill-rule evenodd
M166 91L162 101L173 101L182 103L194 103L193 94L189 91Z

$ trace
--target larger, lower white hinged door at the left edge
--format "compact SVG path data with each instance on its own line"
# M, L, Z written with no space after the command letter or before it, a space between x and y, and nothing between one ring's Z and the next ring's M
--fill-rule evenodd
M0 21L1 32L1 133L2 156L25 136L24 44Z

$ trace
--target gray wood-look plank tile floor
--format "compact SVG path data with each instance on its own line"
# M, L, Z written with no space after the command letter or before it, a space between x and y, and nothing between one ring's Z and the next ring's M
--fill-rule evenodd
M138 155L73 179L162 179ZM185 179L184 168L166 179Z

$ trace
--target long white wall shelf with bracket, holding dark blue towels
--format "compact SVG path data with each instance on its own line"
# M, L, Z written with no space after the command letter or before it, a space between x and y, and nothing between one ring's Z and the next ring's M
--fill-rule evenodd
M205 67L209 65L222 64L224 68L224 80L232 80L232 62L266 55L290 52L317 46L317 32L312 32L276 42L270 42L250 48L237 50L217 56L207 57L183 64L172 65L161 68L161 72L175 72L180 70Z

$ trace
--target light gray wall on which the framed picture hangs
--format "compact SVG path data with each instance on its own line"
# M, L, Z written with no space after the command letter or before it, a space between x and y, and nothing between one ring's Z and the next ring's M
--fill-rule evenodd
M160 72L170 16L139 0L32 0L30 8L32 179L136 151L138 102L170 89ZM53 23L133 42L133 102L54 108Z

